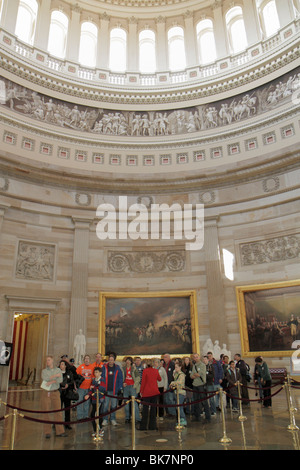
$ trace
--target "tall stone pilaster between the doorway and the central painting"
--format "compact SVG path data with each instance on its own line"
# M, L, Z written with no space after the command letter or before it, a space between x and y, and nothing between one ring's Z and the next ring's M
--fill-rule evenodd
M74 248L69 329L69 354L74 354L74 338L82 330L86 335L88 295L89 229L91 219L73 218Z

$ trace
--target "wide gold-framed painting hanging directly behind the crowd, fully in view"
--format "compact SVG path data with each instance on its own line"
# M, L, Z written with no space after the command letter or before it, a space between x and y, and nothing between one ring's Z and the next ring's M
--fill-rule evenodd
M199 352L196 291L100 292L99 350L122 357Z

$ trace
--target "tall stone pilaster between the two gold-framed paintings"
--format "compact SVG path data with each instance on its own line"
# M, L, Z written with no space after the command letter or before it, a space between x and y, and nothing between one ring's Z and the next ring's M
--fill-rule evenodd
M228 344L217 218L204 220L204 249L210 338Z

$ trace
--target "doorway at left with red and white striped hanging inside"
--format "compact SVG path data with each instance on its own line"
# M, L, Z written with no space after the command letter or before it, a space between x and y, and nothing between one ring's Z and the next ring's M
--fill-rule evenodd
M48 330L48 313L15 312L10 386L40 383L48 349Z

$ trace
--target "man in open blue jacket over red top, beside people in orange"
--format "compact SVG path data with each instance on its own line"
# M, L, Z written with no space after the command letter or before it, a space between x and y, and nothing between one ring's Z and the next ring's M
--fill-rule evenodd
M107 413L109 404L110 411L117 408L118 393L123 387L123 372L121 368L115 363L116 354L110 353L108 362L102 367L102 380L101 385L105 387L105 399L103 404L103 414ZM112 412L110 415L104 416L102 426L108 425L108 418L111 417L111 424L117 426L116 413Z

